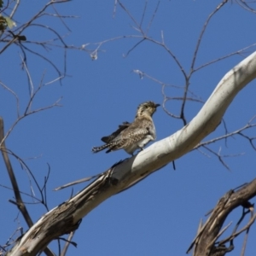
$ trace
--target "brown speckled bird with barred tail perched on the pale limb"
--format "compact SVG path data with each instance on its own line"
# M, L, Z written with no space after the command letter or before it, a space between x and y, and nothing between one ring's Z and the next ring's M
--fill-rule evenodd
M132 123L123 122L119 125L118 130L114 131L111 135L102 137L102 142L105 143L100 147L93 147L92 152L97 153L106 148L106 153L111 151L125 149L128 154L133 153L154 141L156 132L152 116L160 104L154 102L143 102L137 108L137 113Z

